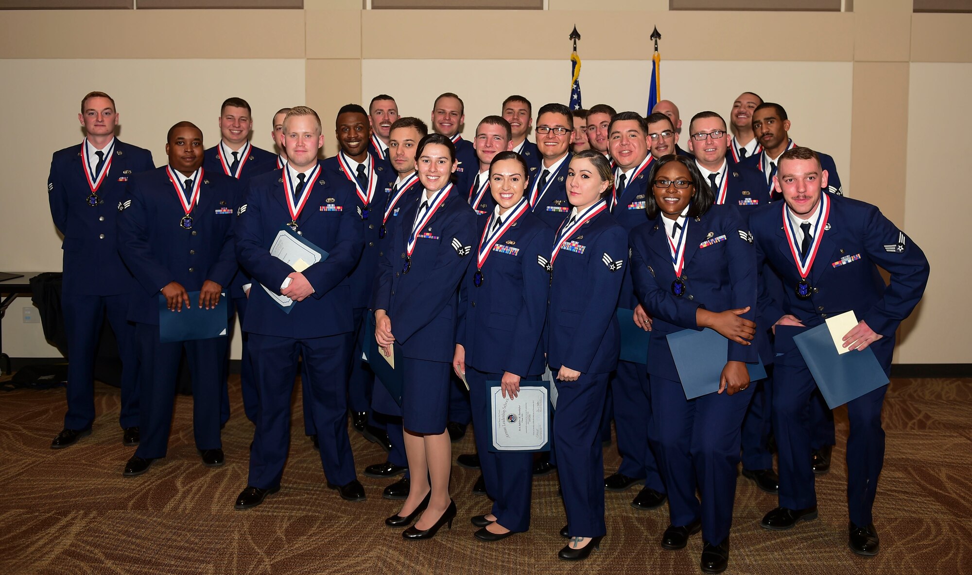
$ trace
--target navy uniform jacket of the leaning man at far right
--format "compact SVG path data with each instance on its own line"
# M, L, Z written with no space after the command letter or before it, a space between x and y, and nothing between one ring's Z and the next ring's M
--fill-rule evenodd
M827 197L829 229L823 231L807 278L813 288L809 299L797 298L794 291L800 275L786 240L783 202L750 217L756 254L769 263L782 284L781 290L768 291L781 298L761 299L761 314L774 322L791 314L813 327L852 310L858 321L866 321L885 336L870 348L887 372L895 331L918 305L928 282L928 260L876 206L831 193ZM885 286L879 266L890 273L889 285ZM793 347L792 339L776 338L778 358Z

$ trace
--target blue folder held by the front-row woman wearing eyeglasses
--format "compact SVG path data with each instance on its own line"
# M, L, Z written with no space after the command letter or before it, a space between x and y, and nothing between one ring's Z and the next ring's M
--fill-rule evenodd
M718 391L719 378L729 356L729 340L708 327L702 331L683 329L670 333L668 340L685 399ZM746 369L750 382L766 379L762 360L746 363Z

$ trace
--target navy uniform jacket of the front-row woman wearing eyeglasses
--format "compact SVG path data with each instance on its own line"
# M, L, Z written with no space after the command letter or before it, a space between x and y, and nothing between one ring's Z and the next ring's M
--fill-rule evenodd
M711 312L745 308L746 320L756 318L756 254L746 223L735 208L713 205L699 218L686 218L685 294L672 293L676 279L664 218L643 223L631 232L631 273L644 307L654 317L648 339L648 373L672 381L678 378L667 335L701 329L696 310ZM757 334L757 337L760 337ZM727 360L755 363L757 346L729 342Z

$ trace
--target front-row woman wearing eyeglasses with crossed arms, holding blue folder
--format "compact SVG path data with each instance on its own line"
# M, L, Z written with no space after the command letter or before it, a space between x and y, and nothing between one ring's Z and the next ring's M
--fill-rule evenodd
M729 559L740 428L752 395L746 363L757 361L756 346L749 345L755 252L736 208L713 205L693 159L662 156L648 178L648 221L632 230L629 242L635 289L654 317L647 362L651 436L671 520L661 545L681 549L701 529L700 566L719 573ZM729 351L718 390L686 400L667 336L704 327L729 339Z

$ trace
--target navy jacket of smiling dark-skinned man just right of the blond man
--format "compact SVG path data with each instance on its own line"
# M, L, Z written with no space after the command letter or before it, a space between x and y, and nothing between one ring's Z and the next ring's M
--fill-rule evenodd
M348 180L344 168L337 161L337 156L329 157L321 162L321 166L327 172L330 172L330 179L335 186L339 184L349 186L351 197L355 202L353 212L358 216L359 225L361 225L364 234L364 253L355 270L351 273L352 306L357 309L366 308L371 301L371 288L374 283L375 271L378 269L378 247L381 243L378 232L381 229L381 218L384 216L384 206L388 204L388 194L392 190L392 186L395 185L395 180L399 177L392 169L392 164L379 159L374 154L371 154L371 162L374 166L374 178L378 179L378 183L374 188L374 198L368 205L367 220L362 219L364 202L356 193L355 185ZM352 174L351 177L355 178L356 175Z

